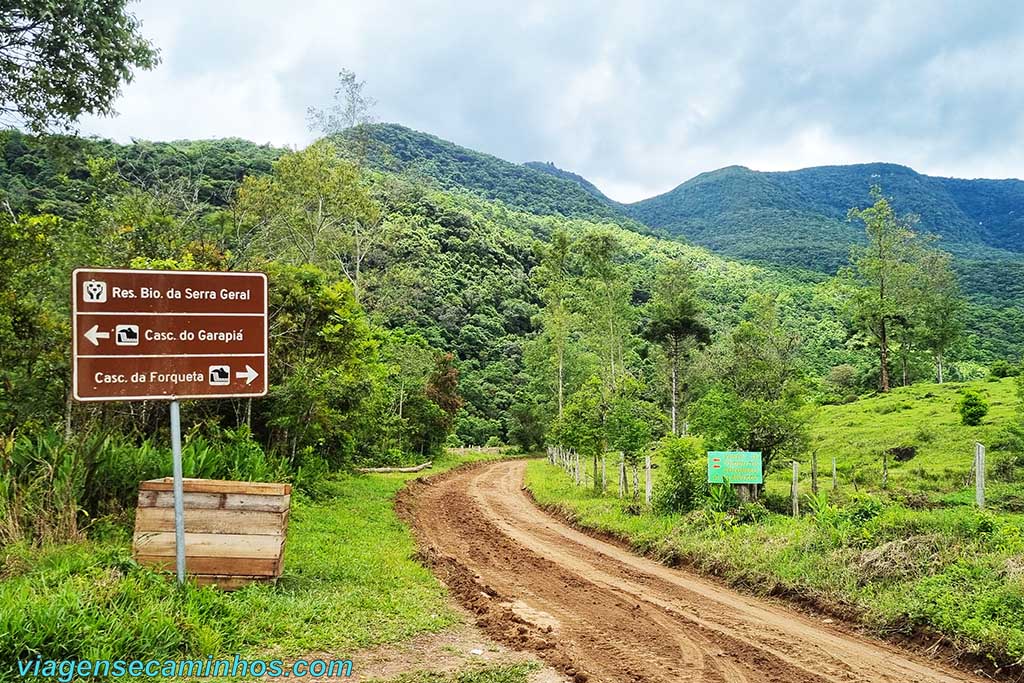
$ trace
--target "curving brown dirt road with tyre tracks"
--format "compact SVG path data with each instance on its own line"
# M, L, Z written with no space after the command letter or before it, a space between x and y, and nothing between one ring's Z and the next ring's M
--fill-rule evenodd
M492 636L577 681L981 681L638 557L539 510L525 463L414 482L424 555Z

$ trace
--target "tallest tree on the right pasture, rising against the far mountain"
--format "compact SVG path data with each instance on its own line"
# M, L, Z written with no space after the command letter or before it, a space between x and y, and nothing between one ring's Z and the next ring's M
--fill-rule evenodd
M889 346L892 328L906 315L906 297L914 281L916 216L897 217L882 189L871 187L873 206L850 209L850 220L863 221L867 246L851 250L852 268L844 274L856 282L854 322L871 335L879 348L879 384L889 391Z

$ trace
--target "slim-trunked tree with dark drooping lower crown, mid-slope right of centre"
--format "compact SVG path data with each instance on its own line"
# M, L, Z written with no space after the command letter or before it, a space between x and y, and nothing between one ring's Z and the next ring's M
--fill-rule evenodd
M693 297L689 272L679 261L670 261L658 273L650 313L648 337L662 344L671 367L672 433L676 435L679 433L679 361L686 352L688 341L706 344L711 339L711 331L699 319L699 306Z

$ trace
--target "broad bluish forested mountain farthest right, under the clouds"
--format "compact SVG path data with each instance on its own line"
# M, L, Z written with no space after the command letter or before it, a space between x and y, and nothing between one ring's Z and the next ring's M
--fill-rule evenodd
M895 164L758 172L719 169L626 207L637 220L738 258L833 272L863 239L846 220L879 185L939 246L968 258L1024 253L1024 181L959 180Z

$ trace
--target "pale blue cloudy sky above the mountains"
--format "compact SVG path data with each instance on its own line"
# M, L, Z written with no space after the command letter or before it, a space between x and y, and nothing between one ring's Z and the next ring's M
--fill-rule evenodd
M620 201L731 164L1024 177L1024 4L142 0L162 63L83 134L301 147L341 69L374 118Z

